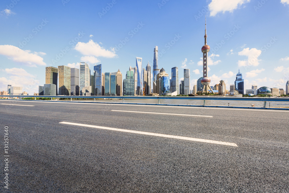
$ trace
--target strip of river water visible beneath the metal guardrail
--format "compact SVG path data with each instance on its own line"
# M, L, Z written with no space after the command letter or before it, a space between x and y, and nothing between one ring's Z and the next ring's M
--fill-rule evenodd
M93 101L93 100L83 100ZM96 102L123 102L123 100L112 99L112 100L95 100ZM158 99L125 99L127 103L158 103ZM188 105L203 105L203 100L177 100L177 99L161 99L161 104L188 104ZM270 103L270 104L269 104ZM206 105L214 106L251 106L254 104L255 107L263 107L264 102L262 101L233 101L233 100L206 100ZM266 107L285 107L289 108L288 102L267 102Z

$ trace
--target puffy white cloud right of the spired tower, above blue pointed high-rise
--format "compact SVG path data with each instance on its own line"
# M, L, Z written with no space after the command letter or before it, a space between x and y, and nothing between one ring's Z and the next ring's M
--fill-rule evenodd
M258 50L256 48L249 49L244 48L241 52L238 52L239 56L247 56L247 60L239 60L238 61L238 66L258 66L259 65L259 60L258 57L261 55L262 51Z

